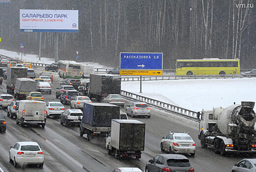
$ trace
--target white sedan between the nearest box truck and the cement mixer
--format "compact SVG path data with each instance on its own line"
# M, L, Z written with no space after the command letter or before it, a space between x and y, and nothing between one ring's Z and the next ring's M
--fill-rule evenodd
M188 133L171 132L162 137L160 144L161 151L168 151L169 153L190 153L191 156L195 154L195 143Z

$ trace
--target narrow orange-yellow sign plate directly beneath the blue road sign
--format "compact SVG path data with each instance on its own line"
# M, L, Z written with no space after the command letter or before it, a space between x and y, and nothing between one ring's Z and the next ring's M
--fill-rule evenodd
M161 70L120 70L120 75L162 75Z

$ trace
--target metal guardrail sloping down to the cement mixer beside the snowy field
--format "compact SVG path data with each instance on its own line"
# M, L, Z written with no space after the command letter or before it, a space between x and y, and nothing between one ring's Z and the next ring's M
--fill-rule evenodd
M158 100L155 100L155 99L151 99L151 98L148 98L148 97L145 97L145 96L134 94L134 93L131 93L131 92L128 92L128 91L125 91L125 90L121 90L121 95L126 97L126 98L129 98L129 99L146 102L147 104L152 105L152 106L154 106L156 108L159 108L161 110L172 112L172 113L177 114L177 115L182 115L183 117L187 117L187 118L190 118L192 120L197 121L197 116L196 116L197 112L194 112L194 111L191 111L191 110L188 110L188 109L185 109L185 108L181 108L181 107L178 107L178 106L175 106L175 105L171 105L171 104L168 104L168 103L165 103L165 102L161 102L161 101L158 101Z

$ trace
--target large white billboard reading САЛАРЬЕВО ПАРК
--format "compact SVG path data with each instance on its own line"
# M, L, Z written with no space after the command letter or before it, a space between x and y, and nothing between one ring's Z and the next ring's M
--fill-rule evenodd
M20 9L21 31L78 31L78 10Z

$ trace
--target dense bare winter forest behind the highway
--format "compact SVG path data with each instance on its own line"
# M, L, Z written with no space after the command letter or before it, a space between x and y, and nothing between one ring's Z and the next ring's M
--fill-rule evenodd
M21 32L20 9L79 10L79 31L59 33L59 59L119 66L120 52L176 59L238 58L256 68L253 0L11 0L0 4L0 49L39 53L39 32ZM42 57L54 58L54 33L42 32Z

